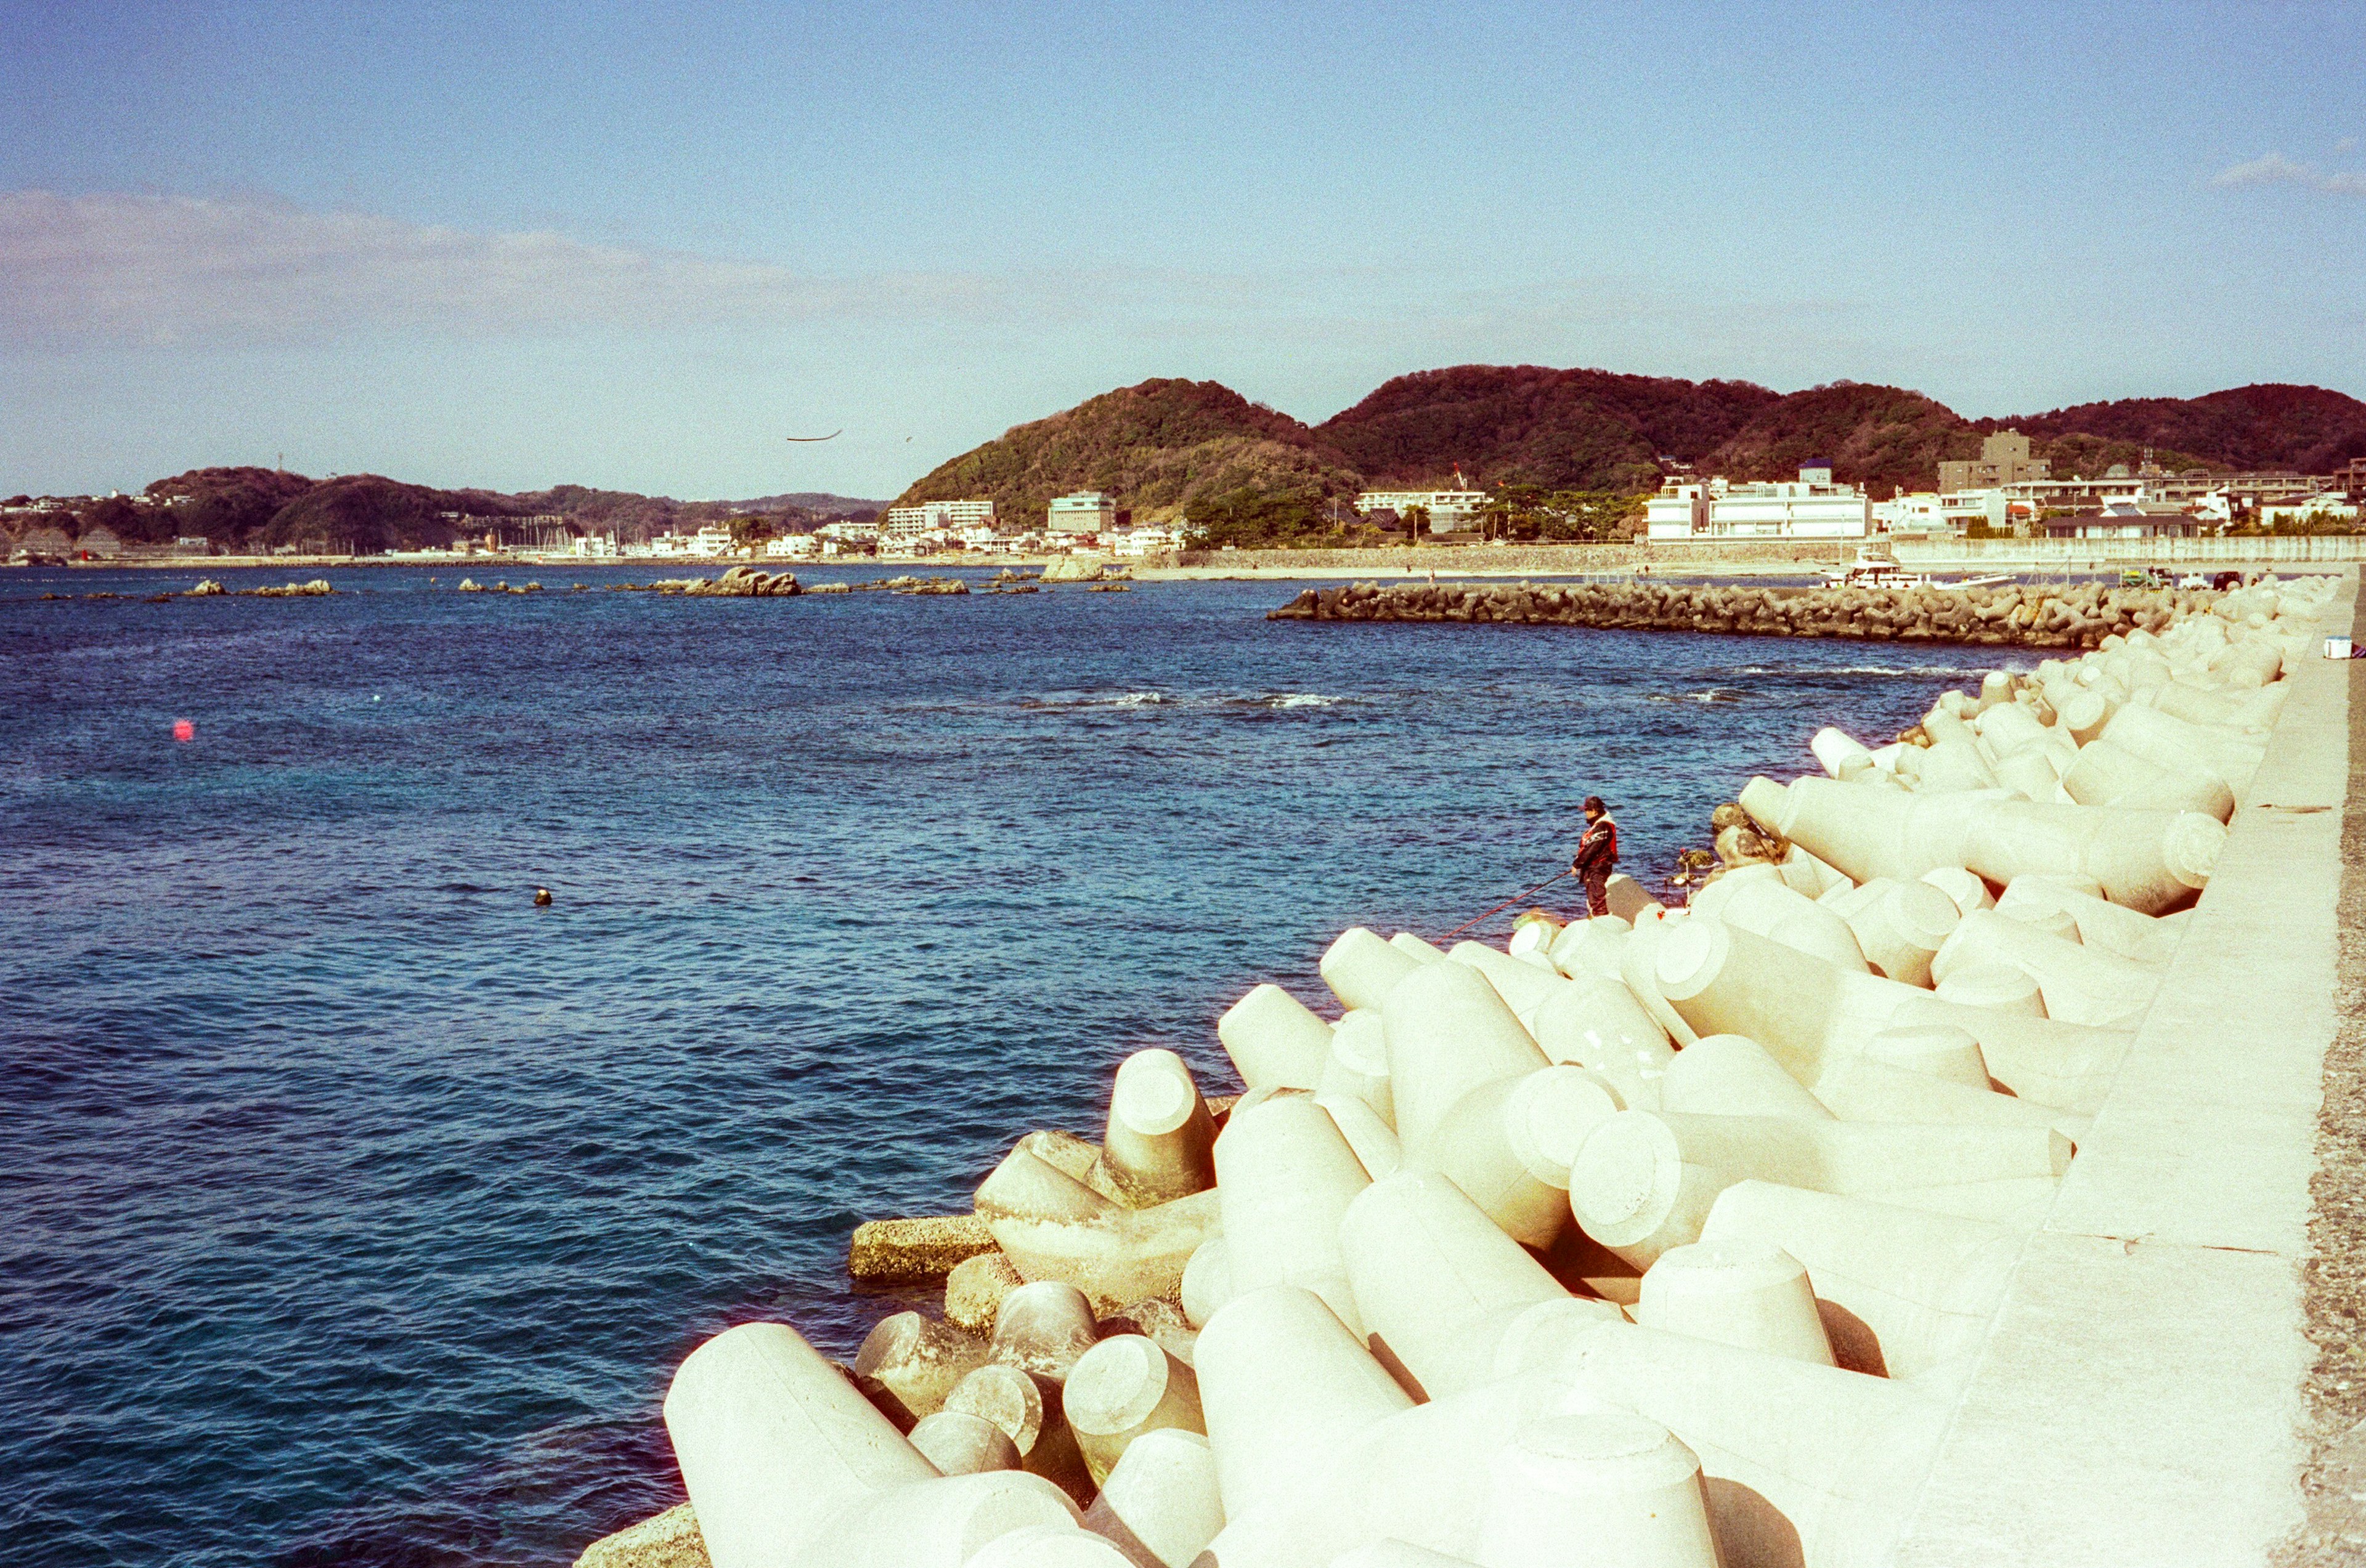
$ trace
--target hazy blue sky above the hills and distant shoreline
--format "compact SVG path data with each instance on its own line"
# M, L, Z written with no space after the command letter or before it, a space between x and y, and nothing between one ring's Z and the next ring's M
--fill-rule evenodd
M0 494L890 497L1150 376L2366 397L2361 59L2357 0L0 0Z

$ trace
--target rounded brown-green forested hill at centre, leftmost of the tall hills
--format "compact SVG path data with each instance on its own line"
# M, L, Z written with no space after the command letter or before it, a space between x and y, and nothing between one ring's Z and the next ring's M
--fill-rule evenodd
M1138 523L1254 513L1287 530L1356 485L1287 414L1214 381L1143 381L1013 426L923 475L897 506L991 497L998 518L1041 523L1055 494L1103 490Z

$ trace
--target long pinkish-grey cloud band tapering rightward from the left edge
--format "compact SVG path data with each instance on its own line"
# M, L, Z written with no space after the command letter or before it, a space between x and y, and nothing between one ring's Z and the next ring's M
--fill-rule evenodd
M750 260L478 234L265 199L0 192L0 341L305 343L793 324L975 303L977 279L823 279Z

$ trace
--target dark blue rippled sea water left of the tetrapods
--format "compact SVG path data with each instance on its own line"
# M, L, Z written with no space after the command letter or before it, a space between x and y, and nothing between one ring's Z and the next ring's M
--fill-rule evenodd
M14 1561L563 1563L677 1497L700 1336L897 1305L859 1218L1091 1130L1138 1045L1214 1088L1252 981L1547 875L1588 790L1663 873L1817 724L1978 667L539 577L0 572Z

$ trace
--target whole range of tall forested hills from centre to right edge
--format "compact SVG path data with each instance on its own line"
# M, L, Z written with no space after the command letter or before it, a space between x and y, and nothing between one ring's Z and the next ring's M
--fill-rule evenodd
M1034 520L1069 490L1105 490L1148 518L1266 516L1315 527L1368 487L1538 485L1644 492L1663 459L1730 478L1789 478L1827 459L1834 478L1928 490L1938 464L1978 456L2018 428L2058 473L2141 461L2167 468L2328 473L2366 456L2366 402L2314 385L2260 383L2203 397L2094 402L2023 419L1964 419L1895 385L1836 381L1774 393L1748 381L1682 381L1538 364L1457 364L1382 383L1306 426L1216 381L1145 381L1013 426L913 482L897 504L991 497ZM1271 532L1271 530L1268 530Z

